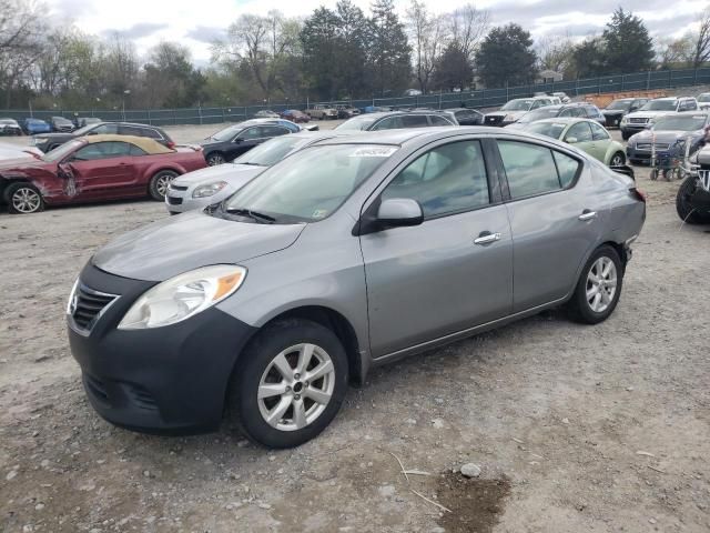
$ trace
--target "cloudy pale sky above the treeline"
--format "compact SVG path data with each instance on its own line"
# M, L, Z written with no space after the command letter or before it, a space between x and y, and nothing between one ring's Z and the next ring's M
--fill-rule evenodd
M434 12L449 12L465 0L425 0ZM114 32L132 40L142 56L161 41L189 47L196 64L210 63L210 44L243 13L265 14L277 9L288 17L307 17L320 6L336 0L44 0L58 23L73 22L87 33L108 37ZM368 11L369 0L353 0ZM400 16L408 0L395 0ZM653 36L676 37L691 28L708 0L479 0L494 26L517 22L534 37L599 33L619 6L641 17Z

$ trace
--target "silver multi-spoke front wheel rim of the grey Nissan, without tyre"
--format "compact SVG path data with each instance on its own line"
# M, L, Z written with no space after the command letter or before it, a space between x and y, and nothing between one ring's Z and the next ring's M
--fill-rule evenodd
M335 368L325 350L296 344L276 355L258 383L258 411L280 431L296 431L323 414L335 389Z

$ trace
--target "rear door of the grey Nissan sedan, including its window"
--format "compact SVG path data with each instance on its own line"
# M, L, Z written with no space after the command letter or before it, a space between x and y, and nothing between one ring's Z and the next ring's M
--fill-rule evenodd
M498 140L514 248L514 312L562 299L598 242L605 207L584 160Z

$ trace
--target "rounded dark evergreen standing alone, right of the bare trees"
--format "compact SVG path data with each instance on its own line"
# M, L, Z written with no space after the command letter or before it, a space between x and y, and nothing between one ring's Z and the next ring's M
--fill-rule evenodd
M530 33L513 23L490 30L476 52L477 72L486 87L532 82L536 61Z

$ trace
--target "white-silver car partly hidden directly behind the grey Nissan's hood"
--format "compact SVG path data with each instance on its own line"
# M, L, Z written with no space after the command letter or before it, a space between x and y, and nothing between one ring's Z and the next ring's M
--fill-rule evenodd
M219 203L288 154L338 135L343 133L304 131L276 137L253 148L232 163L207 167L178 177L165 193L168 212L179 214Z

